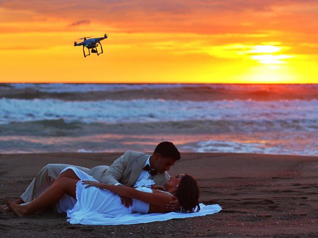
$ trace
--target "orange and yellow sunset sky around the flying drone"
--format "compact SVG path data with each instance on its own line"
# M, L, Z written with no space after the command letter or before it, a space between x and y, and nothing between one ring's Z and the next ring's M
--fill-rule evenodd
M0 39L0 82L318 83L317 0L0 0Z

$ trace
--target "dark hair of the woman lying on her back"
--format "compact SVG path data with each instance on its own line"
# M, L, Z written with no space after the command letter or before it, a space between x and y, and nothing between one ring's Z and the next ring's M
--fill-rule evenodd
M184 175L179 183L176 193L176 197L179 199L182 210L193 212L197 207L197 212L200 211L199 192L197 181L190 175Z

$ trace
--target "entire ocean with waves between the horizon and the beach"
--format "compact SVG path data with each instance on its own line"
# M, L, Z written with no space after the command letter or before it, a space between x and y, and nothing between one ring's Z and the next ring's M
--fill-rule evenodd
M0 153L318 154L318 84L0 84Z

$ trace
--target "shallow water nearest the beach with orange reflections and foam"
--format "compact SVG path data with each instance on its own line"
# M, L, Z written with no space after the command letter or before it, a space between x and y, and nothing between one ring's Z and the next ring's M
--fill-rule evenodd
M152 151L159 141L173 141L183 152L318 154L315 132L222 134L97 134L80 136L0 136L2 153Z

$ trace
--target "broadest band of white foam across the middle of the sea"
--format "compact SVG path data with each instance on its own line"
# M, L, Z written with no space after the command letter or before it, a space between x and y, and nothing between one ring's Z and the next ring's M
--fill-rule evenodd
M0 99L0 123L64 119L82 123L131 123L187 120L251 122L270 126L317 130L318 100L104 100L72 102L55 99ZM252 124L250 126L252 126Z

